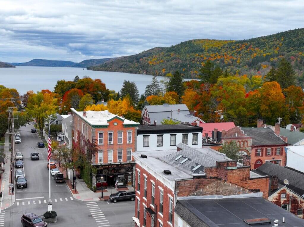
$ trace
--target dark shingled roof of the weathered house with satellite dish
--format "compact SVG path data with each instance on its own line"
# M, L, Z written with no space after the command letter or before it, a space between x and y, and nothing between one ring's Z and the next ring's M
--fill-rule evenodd
M278 182L285 185L283 181L287 179L289 185L287 188L299 195L304 195L304 174L286 167L282 167L271 162L265 162L254 172L266 175L278 175Z

